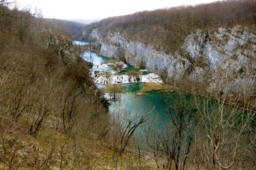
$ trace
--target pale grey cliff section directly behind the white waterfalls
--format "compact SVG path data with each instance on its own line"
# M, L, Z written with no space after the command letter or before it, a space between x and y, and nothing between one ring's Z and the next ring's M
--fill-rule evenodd
M146 45L139 41L129 41L119 33L110 33L101 42L101 55L118 58L118 44L124 54L126 62L144 67L146 70L157 73L161 69L168 70L169 75L184 72L190 65L187 59L175 54L172 56L155 50L150 44Z

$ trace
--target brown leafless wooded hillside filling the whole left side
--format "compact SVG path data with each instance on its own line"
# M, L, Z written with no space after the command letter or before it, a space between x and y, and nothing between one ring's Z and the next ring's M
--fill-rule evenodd
M88 62L61 26L8 5L0 2L0 169L91 167L97 150L87 149L108 118Z

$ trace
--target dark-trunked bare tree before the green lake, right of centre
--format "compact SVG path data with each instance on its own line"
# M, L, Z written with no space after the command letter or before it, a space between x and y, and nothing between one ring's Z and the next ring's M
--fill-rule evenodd
M168 108L170 119L164 129L156 126L147 131L148 146L155 157L165 155L167 167L171 169L174 161L175 169L184 169L191 148L191 127L196 120L193 99L188 94L175 88L176 94L164 92L163 98ZM155 120L155 122L157 119ZM153 137L152 137L153 136Z

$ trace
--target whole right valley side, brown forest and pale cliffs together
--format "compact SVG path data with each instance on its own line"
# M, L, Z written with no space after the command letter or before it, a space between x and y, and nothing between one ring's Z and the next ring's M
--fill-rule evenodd
M253 7L248 0L143 11L92 23L83 35L97 41L101 55L196 83L222 70L236 77L229 89L239 89L241 78L255 74Z

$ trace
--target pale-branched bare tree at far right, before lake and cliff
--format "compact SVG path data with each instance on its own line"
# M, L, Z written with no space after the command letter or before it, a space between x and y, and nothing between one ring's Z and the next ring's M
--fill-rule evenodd
M209 169L254 168L255 59L244 66L243 60L230 60L223 48L214 55L216 69L210 83L205 84L207 95L195 96L203 124L195 128L194 134L198 167L204 162Z

